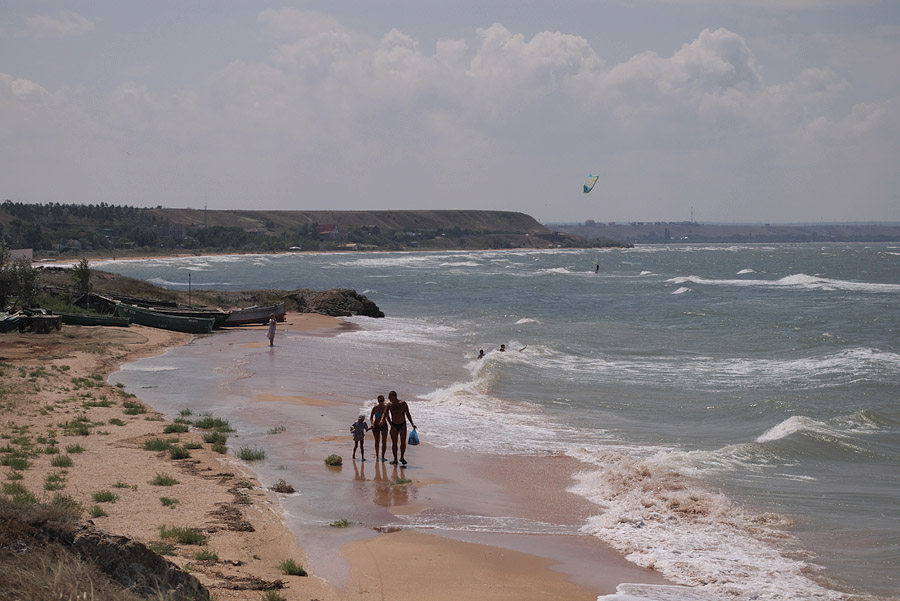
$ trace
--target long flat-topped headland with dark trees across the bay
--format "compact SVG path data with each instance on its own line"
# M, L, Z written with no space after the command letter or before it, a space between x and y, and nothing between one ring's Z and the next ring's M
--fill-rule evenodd
M286 250L623 246L561 234L513 211L214 211L0 204L0 243L36 257Z

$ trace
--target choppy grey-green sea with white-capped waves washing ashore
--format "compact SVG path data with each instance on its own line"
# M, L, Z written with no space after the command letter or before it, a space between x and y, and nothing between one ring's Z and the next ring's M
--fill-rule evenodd
M597 505L578 531L691 587L623 583L603 600L900 599L900 244L94 266L180 290L367 296L387 317L347 318L359 327L333 336L279 331L294 361L215 347L217 334L114 378L174 416L189 400L226 407L220 381L248 394L239 383L255 374L255 389L361 409L395 389L437 447L577 458L570 490ZM263 440L250 416L229 419Z

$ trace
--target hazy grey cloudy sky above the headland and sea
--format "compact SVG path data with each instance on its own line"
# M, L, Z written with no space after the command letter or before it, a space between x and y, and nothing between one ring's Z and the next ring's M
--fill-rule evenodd
M0 0L0 199L896 222L900 0Z

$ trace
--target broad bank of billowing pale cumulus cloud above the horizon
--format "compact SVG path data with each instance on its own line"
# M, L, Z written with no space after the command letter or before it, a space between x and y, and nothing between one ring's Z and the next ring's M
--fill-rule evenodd
M56 179L85 201L491 206L558 219L665 219L669 205L728 198L733 213L707 209L704 218L777 220L793 196L846 193L867 165L900 160L896 95L867 95L824 59L767 81L755 39L726 28L698 30L668 55L609 61L585 37L528 36L499 23L438 39L433 50L400 29L373 37L293 8L262 11L257 26L262 58L229 56L174 91L131 72L111 93L51 94L0 75L0 133L20 134L35 164L64 174ZM868 55L852 53L852 40L830 43L845 65ZM45 148L47 139L61 142ZM833 181L851 154L853 178ZM27 156L0 159L25 173ZM567 182L577 192L582 171L596 169L608 213L581 212L597 195L557 202ZM866 178L876 192L889 180ZM122 196L103 197L108 190Z

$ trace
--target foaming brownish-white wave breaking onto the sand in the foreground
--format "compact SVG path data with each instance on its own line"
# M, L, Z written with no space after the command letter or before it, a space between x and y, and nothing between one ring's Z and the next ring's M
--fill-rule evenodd
M598 469L579 474L571 491L604 507L582 530L638 565L713 595L700 598L843 598L806 576L813 566L778 550L790 541L781 516L749 512L652 460L589 449L572 455Z

